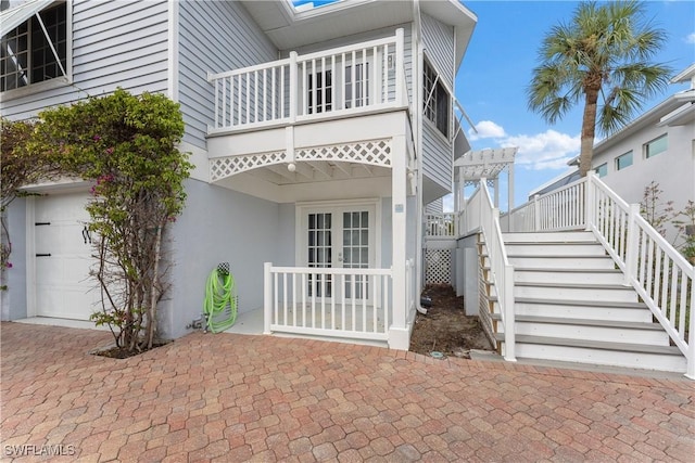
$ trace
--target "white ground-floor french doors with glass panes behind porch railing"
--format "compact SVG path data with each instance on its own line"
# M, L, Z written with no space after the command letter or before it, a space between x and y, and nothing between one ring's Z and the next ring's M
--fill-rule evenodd
M367 269L375 263L375 207L312 208L303 214L305 265L309 268ZM309 296L339 299L370 298L363 275L315 274L308 281Z

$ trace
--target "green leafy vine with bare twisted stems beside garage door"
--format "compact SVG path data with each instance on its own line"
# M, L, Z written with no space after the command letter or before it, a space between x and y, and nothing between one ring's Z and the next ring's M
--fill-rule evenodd
M191 168L177 149L184 127L165 95L118 89L42 112L29 143L65 175L92 182L88 229L102 294L92 320L129 350L152 346L156 304L168 287L162 236L184 208Z

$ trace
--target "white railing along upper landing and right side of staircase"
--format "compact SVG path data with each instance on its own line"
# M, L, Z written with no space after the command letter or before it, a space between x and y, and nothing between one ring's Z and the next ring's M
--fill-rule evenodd
M642 216L593 173L511 210L508 231L593 231L654 317L687 359L695 380L695 271Z

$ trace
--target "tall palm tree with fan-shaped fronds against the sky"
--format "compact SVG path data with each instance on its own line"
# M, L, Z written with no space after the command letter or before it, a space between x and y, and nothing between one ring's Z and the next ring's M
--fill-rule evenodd
M666 38L665 30L644 20L637 1L582 2L571 23L546 34L539 51L542 64L527 89L529 108L555 124L583 100L582 177L591 169L596 127L606 136L615 132L666 89L672 70L650 61Z

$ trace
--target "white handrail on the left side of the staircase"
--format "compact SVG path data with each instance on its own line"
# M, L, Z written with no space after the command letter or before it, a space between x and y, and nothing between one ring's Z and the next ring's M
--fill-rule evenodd
M482 193L480 205L480 229L483 234L492 283L497 292L497 303L504 325L504 344L507 361L516 361L516 334L514 313L514 267L507 258L507 250L500 227L500 209L493 206L485 179L480 180Z

